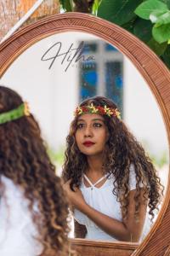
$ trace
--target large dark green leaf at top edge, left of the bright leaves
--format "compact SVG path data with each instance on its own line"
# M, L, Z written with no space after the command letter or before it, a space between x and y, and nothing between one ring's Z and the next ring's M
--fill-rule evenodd
M134 9L142 0L103 0L98 9L98 16L120 26L132 20L136 15Z

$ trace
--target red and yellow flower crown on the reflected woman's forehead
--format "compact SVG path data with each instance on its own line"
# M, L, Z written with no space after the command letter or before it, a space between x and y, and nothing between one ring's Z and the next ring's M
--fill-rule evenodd
M106 105L104 107L94 106L94 104L91 103L88 106L77 107L75 111L75 116L81 115L84 113L99 113L99 114L107 115L109 117L116 116L118 119L121 119L121 113L118 111L117 108L108 108Z

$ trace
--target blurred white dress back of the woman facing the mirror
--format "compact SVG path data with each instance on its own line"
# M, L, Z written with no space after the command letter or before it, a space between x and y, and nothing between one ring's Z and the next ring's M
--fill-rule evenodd
M42 247L33 237L37 229L28 210L28 201L12 180L2 176L1 182L4 191L0 196L0 255L36 256ZM37 206L34 210L37 211Z

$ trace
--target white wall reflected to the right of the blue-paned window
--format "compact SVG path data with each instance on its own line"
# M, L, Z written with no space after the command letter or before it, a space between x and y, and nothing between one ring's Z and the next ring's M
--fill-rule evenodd
M124 113L133 134L154 154L167 150L167 132L149 85L131 61L124 58Z

